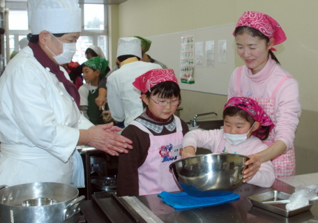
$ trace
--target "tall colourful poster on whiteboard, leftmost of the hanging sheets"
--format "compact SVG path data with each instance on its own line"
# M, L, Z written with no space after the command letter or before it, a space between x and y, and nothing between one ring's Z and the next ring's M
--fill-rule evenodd
M195 68L195 38L181 37L181 82L185 84L195 84L193 79L193 69Z

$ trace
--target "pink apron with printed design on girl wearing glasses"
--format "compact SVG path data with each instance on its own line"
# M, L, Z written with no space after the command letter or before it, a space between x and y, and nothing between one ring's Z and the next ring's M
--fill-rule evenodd
M154 136L142 123L132 121L140 130L147 132L150 138L150 147L144 164L138 168L139 195L158 194L162 191L180 191L169 165L181 159L179 154L182 148L182 126L180 118L176 120L176 132Z

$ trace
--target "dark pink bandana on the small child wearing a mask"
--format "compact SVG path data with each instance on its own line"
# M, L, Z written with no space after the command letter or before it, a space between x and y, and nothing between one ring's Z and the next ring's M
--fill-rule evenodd
M225 104L224 110L227 107L239 107L240 109L243 109L245 112L248 112L248 114L250 114L250 116L252 116L252 118L254 118L255 121L260 123L259 129L258 129L259 132L262 132L262 126L271 126L269 130L270 132L271 130L273 130L275 126L274 123L271 121L271 118L267 116L267 114L264 112L262 107L260 107L259 104L255 100L252 100L251 98L244 98L244 97L230 98L227 101L227 104ZM252 134L258 137L257 131L253 132Z

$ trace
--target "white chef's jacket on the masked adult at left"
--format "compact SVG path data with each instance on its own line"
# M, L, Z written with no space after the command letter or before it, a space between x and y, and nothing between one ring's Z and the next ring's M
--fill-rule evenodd
M0 185L70 184L79 128L92 125L50 68L24 47L0 77Z

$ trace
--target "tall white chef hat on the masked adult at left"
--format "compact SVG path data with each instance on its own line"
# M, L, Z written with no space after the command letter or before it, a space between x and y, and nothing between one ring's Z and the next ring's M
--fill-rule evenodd
M31 33L80 32L81 10L77 0L28 0Z

